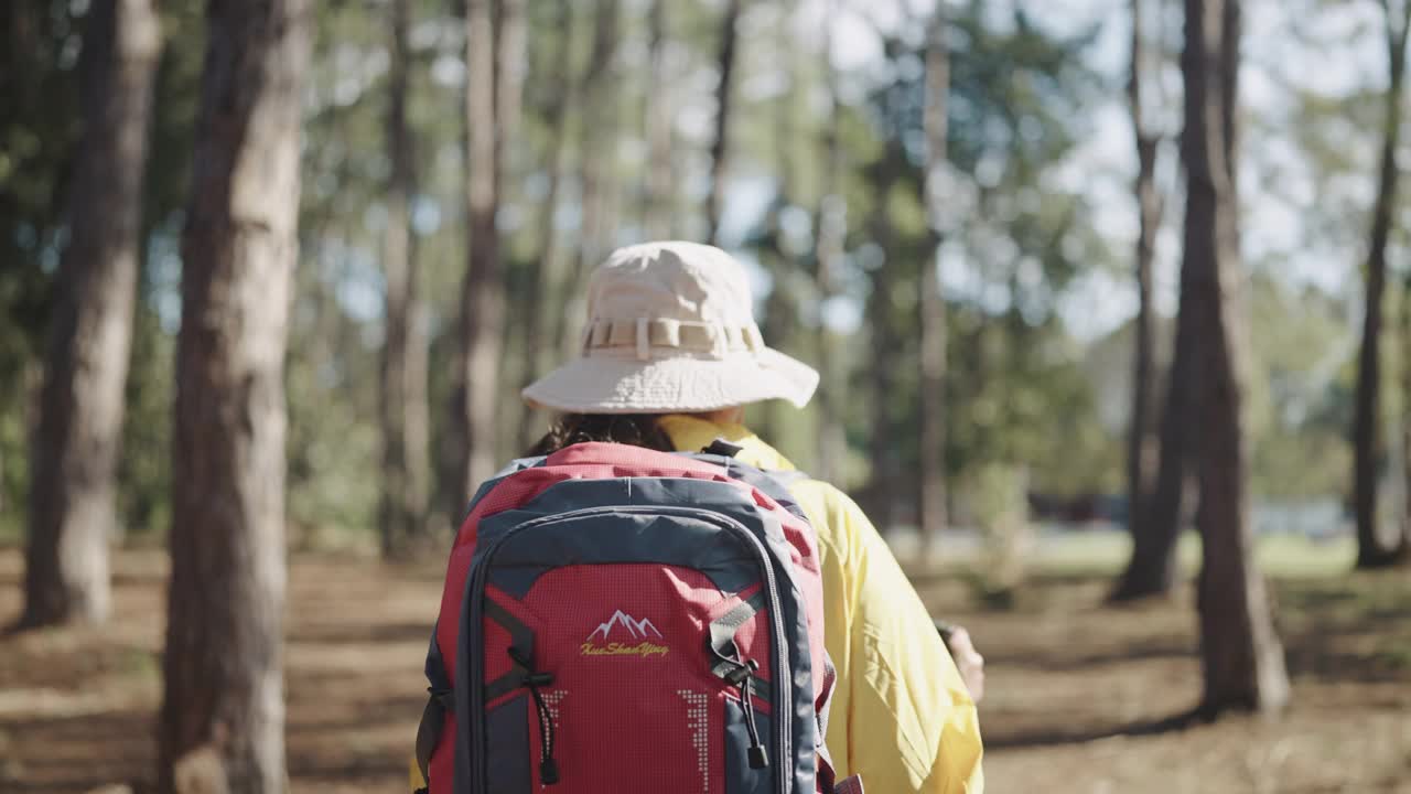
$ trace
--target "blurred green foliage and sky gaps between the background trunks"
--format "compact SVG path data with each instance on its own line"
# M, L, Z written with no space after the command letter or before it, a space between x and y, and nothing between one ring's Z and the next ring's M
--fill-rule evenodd
M655 1L655 0L653 0ZM667 3L672 99L677 105L674 205L686 236L704 225L718 8ZM121 524L133 535L159 534L169 521L171 383L179 326L182 206L190 175L192 126L203 62L202 4L162 3L166 48L157 86L148 167L148 244L135 311L128 415L120 465ZM531 264L552 227L577 256L584 109L581 73L600 3L571 4L563 24L546 3L531 3L529 73L523 120L511 161L499 223L507 235L507 285L514 307L507 335L501 458L518 452L525 366L522 322L563 311L540 302ZM625 3L614 62L619 112L611 134L618 184L619 242L641 236L649 110L648 3ZM741 35L739 112L731 130L738 185L731 195L758 205L738 239L727 240L761 266L777 292L761 308L776 342L816 360L818 324L841 342L838 365L849 454L841 485L859 490L872 476L875 411L888 401L899 472L916 470L917 321L923 267L931 261L921 203L924 103L921 31L879 31L883 57L840 73L818 52L821 24L792 3L753 3ZM1129 278L1129 240L1103 235L1101 213L1075 172L1075 153L1095 134L1089 112L1120 93L1119 79L1091 66L1101 30L1057 34L1023 10L999 13L979 0L952 3L952 93L943 285L948 304L947 462L957 514L999 523L1009 514L991 493L1020 499L1022 486L1051 494L1115 493L1122 487L1127 397L1127 328L1079 339L1060 304L1103 274ZM1006 6L1009 7L1009 6ZM301 264L288 357L289 500L296 543L371 537L378 497L377 377L381 343L380 239L388 24L380 3L320 3L306 97ZM76 140L73 66L82 3L7 3L0 27L23 47L0 64L0 533L21 526L25 492L27 383L42 353L49 278L63 239L66 164ZM855 14L859 25L865 14ZM811 30L809 25L813 25ZM866 35L866 31L858 35ZM432 338L432 455L449 413L459 285L464 268L463 20L456 3L418 0L411 30L418 191L415 249L422 264ZM552 73L560 48L570 73ZM827 103L828 81L842 105ZM555 160L550 106L569 97L560 206L546 208ZM1305 96L1307 123L1281 131L1312 164L1315 185L1335 196L1304 225L1342 254L1360 244L1364 208L1335 189L1364 165L1339 136L1363 124L1367 96ZM1260 130L1259 120L1252 134ZM842 150L840 195L847 203L841 295L820 307L813 283L817 211L828 182L825 137ZM787 158L787 161L786 161ZM786 165L790 178L785 178ZM1280 164L1261 161L1268 184ZM555 212L555 223L543 213ZM748 212L744 215L749 215ZM1165 239L1163 239L1165 244ZM1253 356L1250 431L1253 489L1266 497L1338 494L1346 487L1350 422L1350 318L1346 302L1277 277L1277 257L1254 263L1246 290ZM885 294L876 292L885 290ZM889 350L893 387L873 394L876 349ZM1158 356L1164 357L1164 352ZM1157 389L1163 394L1164 387ZM1393 400L1400 410L1400 400ZM1125 410L1125 408L1123 408ZM758 407L752 418L806 468L817 466L816 407ZM996 475L1002 472L1003 475ZM1017 487L1017 490L1016 490ZM900 489L904 492L904 489ZM435 502L435 500L433 500ZM902 511L904 521L904 511Z

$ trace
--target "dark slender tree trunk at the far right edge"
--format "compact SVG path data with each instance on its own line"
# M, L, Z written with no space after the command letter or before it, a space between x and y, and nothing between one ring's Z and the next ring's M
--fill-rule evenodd
M1391 236L1401 177L1397 150L1401 146L1401 116L1405 96L1407 31L1411 30L1411 1L1383 0L1388 81L1381 130L1381 164L1371 233L1367 247L1367 297L1357 356L1356 418L1353 421L1353 510L1357 519L1357 568L1380 568L1411 561L1405 533L1388 544L1377 527L1377 479L1383 449L1381 425L1381 325L1387 283L1387 240Z

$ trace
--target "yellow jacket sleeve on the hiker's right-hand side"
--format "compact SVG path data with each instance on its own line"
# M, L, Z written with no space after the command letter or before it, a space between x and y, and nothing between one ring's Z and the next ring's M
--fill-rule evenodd
M847 688L831 713L847 721L828 730L834 760L845 753L838 766L869 791L981 794L979 722L955 663L872 523L842 492L820 486L824 588L837 593L828 646Z

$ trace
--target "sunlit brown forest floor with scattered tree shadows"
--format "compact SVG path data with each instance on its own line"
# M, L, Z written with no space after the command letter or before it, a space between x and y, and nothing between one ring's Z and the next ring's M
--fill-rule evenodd
M969 626L986 656L991 791L1411 793L1411 575L1349 576L1345 548L1274 559L1292 711L1171 728L1199 695L1188 598L1099 609L1102 562L1119 555L1081 547L1092 543L1050 548L1005 610L979 606L959 565L916 574L933 612ZM123 552L110 627L0 640L0 791L150 788L164 575L162 552ZM295 558L293 791L405 790L440 575L439 561ZM20 552L0 551L0 623L18 613L20 576Z

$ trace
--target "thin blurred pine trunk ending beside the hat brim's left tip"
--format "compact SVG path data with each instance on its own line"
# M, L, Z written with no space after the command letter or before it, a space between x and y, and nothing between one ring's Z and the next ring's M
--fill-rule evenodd
M563 38L555 49L553 73L560 81L567 82L573 61L573 10L566 3L550 4L556 11L553 18L555 30ZM538 259L532 263L535 290L535 307L525 318L525 360L529 363L529 373L525 384L549 372L553 366L552 353L559 349L557 333L562 333L560 324L563 312L545 311L546 307L564 305L567 295L564 287L569 281L571 263L559 242L556 226L559 196L563 189L563 171L569 153L569 107L573 100L570 92L555 92L553 102L547 109L545 124L549 129L549 192L543 199L543 213L539 216L539 249ZM538 437L545 432L543 415L538 411L525 411L519 427L519 446L528 449Z

